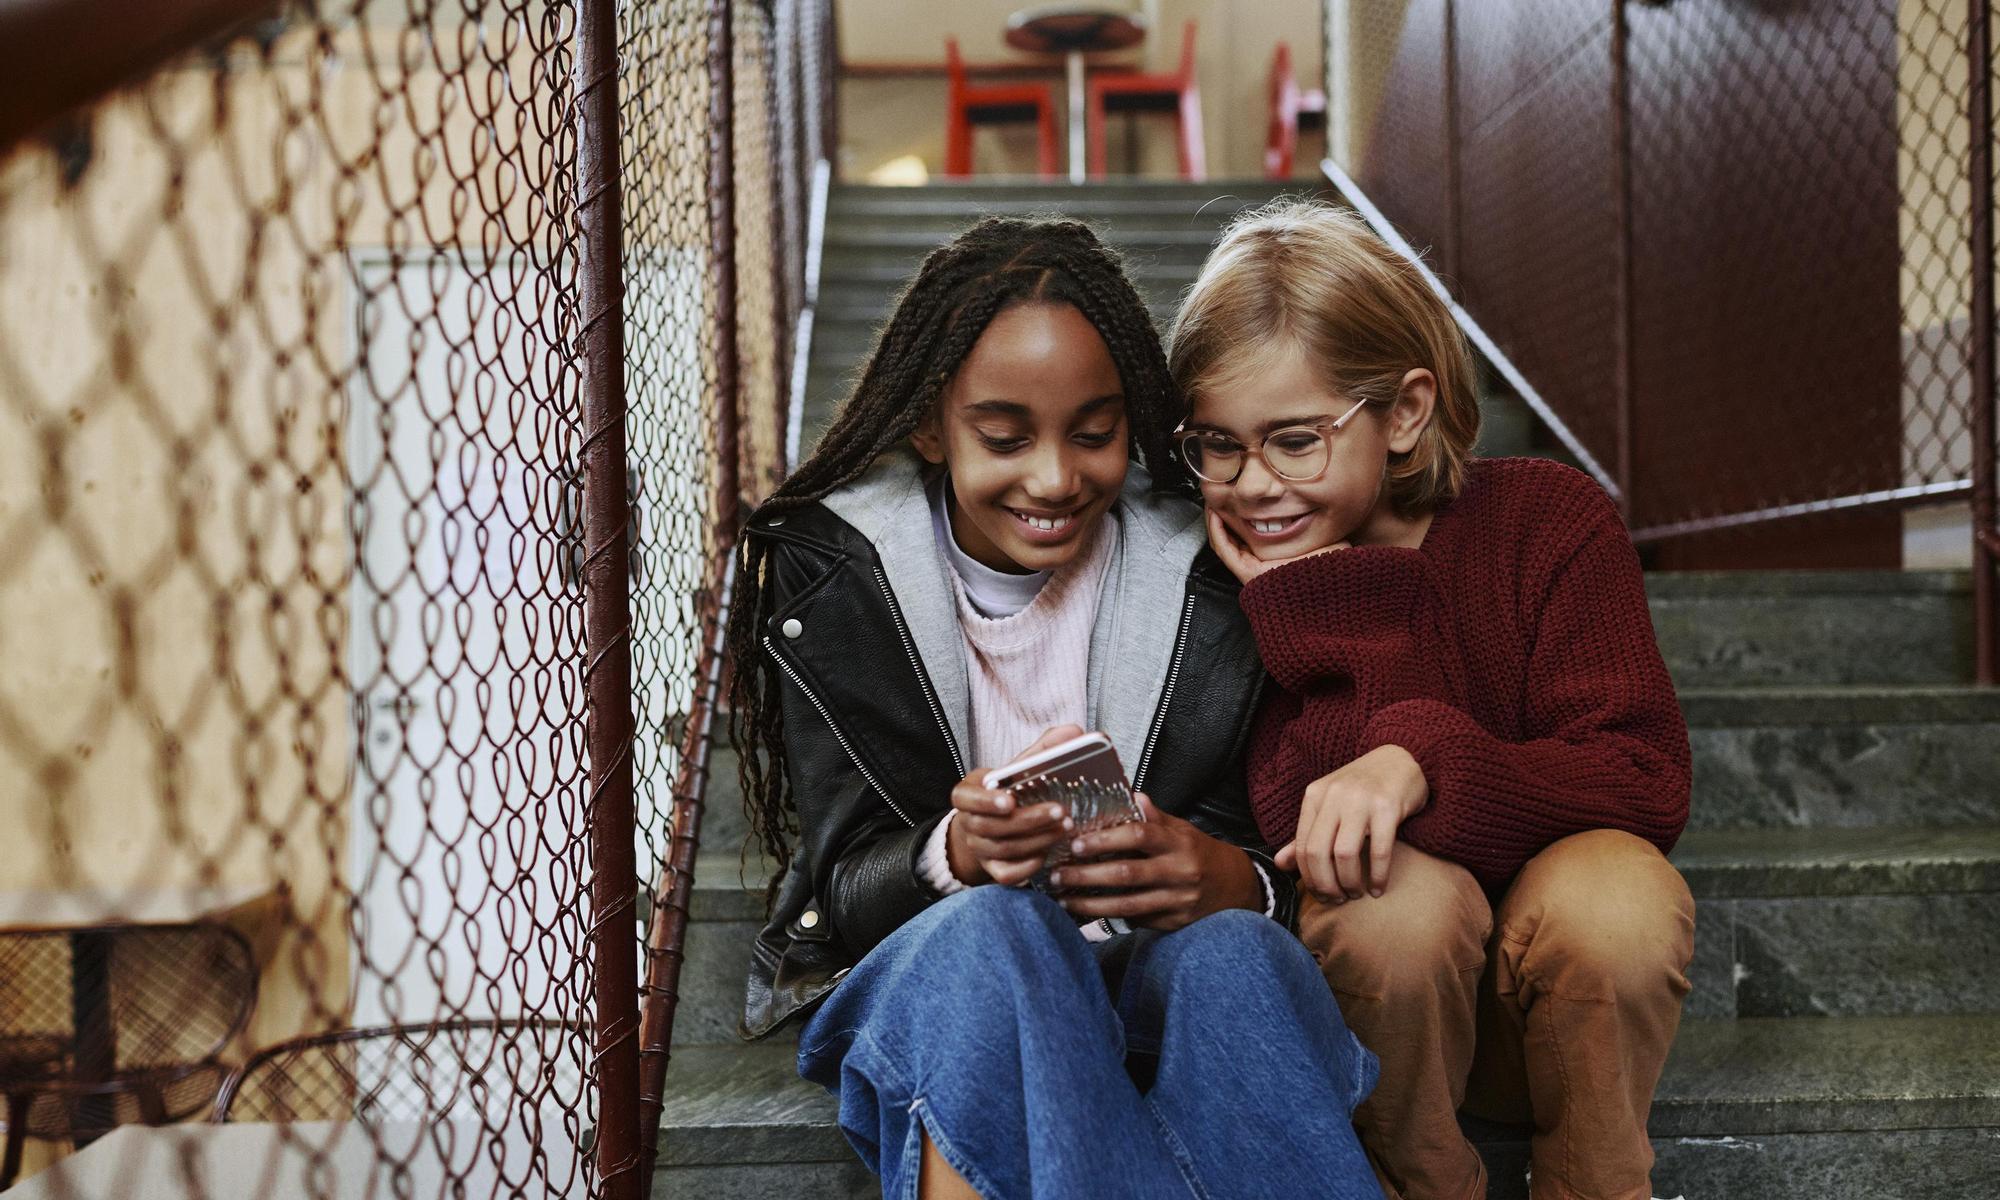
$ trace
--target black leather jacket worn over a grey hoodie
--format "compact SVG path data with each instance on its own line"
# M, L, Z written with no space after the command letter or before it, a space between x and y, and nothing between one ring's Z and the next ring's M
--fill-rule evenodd
M876 942L938 900L916 858L968 768L876 546L820 504L754 522L748 536L770 542L762 642L788 680L784 744L800 824L750 958L742 1034L760 1038L810 1010ZM1136 768L1126 764L1160 810L1260 858L1274 916L1296 928L1294 884L1270 862L1244 794L1264 668L1236 592L1202 548L1186 574L1146 748Z

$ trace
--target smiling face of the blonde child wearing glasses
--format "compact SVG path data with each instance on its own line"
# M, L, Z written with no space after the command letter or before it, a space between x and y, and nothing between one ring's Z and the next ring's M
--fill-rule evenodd
M1286 480L1258 454L1246 454L1230 484L1202 480L1202 502L1222 516L1258 558L1294 558L1336 542L1352 546L1418 546L1430 516L1402 516L1384 484L1388 456L1408 454L1430 422L1436 380L1412 370L1396 404L1370 404L1338 430L1326 430L1326 470L1312 480ZM1238 370L1200 388L1186 428L1228 434L1256 448L1272 430L1332 422L1354 406L1336 396L1296 344L1250 354ZM1324 424L1322 424L1324 428ZM1280 448L1270 446L1276 456Z

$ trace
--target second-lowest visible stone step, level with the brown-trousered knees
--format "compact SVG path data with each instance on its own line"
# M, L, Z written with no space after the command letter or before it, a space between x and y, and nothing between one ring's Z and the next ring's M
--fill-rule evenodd
M766 864L708 844L682 1044L734 1038L764 922ZM2000 826L1696 830L1672 858L1696 898L1690 1016L2000 1012Z

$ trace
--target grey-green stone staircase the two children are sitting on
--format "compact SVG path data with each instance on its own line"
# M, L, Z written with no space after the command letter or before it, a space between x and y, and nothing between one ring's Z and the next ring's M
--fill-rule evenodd
M836 188L806 444L902 280L980 212L1070 212L1128 250L1164 318L1268 184ZM1488 402L1482 450L1528 422ZM1654 626L1694 744L1674 852L1698 902L1694 992L1652 1112L1660 1196L2000 1194L2000 690L1968 680L1960 572L1656 574ZM716 746L656 1196L876 1196L794 1074L736 1040L764 868ZM1522 1130L1470 1126L1494 1198Z

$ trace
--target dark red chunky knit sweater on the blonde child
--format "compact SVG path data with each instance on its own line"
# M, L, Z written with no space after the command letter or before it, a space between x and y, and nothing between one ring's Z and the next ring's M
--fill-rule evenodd
M1250 806L1274 846L1306 784L1378 746L1424 768L1402 838L1502 888L1594 828L1662 852L1688 822L1688 726L1618 510L1538 458L1476 460L1420 550L1358 546L1242 590L1272 688Z

